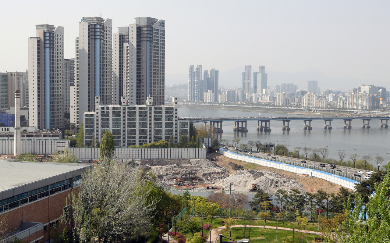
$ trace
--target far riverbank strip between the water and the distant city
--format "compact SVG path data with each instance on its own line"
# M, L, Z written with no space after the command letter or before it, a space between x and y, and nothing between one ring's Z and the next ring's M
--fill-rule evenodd
M329 111L316 111L305 112L300 107L298 108L282 108L282 107L264 107L264 106L227 106L227 105L207 105L207 104L191 104L191 103L179 103L183 108L194 109L209 109L209 110L233 110L243 112L271 112L278 114L300 114L300 115L352 115L353 112L346 110L329 110Z

